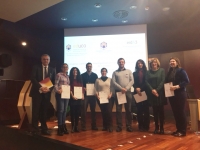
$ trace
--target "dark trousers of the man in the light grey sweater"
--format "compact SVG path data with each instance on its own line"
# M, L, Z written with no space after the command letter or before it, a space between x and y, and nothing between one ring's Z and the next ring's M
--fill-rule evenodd
M126 101L127 103L124 104L125 111L126 111L126 127L131 127L132 117L131 117L131 103L133 101L131 92L126 92ZM115 98L116 103L116 122L119 128L122 128L122 105L118 104L117 96Z

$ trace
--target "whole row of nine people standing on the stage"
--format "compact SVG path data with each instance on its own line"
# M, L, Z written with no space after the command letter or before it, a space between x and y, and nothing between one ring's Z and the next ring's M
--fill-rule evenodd
M101 77L92 72L92 63L86 64L86 72L80 74L77 67L70 70L69 76L68 65L64 63L61 66L61 72L56 75L53 68L49 67L50 56L44 54L41 56L42 65L34 67L31 76L32 89L30 96L32 97L32 127L33 133L38 133L38 121L41 123L41 133L50 135L46 125L46 111L50 102L50 93L53 88L42 87L39 82L46 77L49 77L56 91L57 102L57 118L58 130L57 134L69 134L65 119L67 106L70 106L71 132L79 132L78 122L81 115L81 130L86 131L86 112L88 104L91 110L91 129L98 130L96 125L96 102L99 105L102 113L103 128L102 131L113 131L112 123L112 108L116 104L116 132L122 131L122 105L118 103L116 93L125 94L126 103L125 119L126 131L132 132L132 115L131 106L135 103L133 94L142 96L142 93L147 94L147 100L136 103L137 119L139 131L148 131L150 125L149 107L153 108L155 134L164 134L164 105L167 104L167 99L164 92L164 83L172 82L170 87L174 91L174 96L169 97L169 102L176 121L177 131L173 132L173 136L186 135L186 85L189 83L187 73L181 68L178 58L170 58L168 73L165 76L165 70L160 67L160 62L157 58L151 59L149 70L143 60L139 59L135 65L135 72L125 68L125 60L119 58L117 61L118 69L113 72L112 78L107 77L108 70L102 68ZM94 85L94 95L87 95L88 84ZM70 99L61 98L62 85L70 86ZM82 88L82 97L77 98L74 94L74 87ZM131 92L131 87L134 87L134 93ZM101 103L100 93L104 92L107 95L107 103Z

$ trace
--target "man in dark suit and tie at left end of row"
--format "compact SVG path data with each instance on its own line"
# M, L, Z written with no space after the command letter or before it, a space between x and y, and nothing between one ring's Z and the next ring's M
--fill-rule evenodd
M49 77L51 82L55 82L55 69L49 67L50 56L43 54L41 56L42 64L34 66L31 73L32 88L30 97L32 97L32 130L33 133L39 133L38 121L41 123L41 134L50 135L46 124L47 108L50 103L51 91L47 87L42 87L39 82Z

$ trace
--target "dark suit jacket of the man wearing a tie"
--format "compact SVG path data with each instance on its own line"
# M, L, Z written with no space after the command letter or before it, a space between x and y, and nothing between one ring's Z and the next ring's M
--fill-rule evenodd
M53 85L54 85L54 82L55 82L55 75L56 75L55 69L49 66L48 67L48 77L50 78L50 80L53 83ZM43 68L42 68L42 65L34 66L33 70L32 70L32 73L31 73L31 83L32 83L32 88L31 88L31 91L30 91L30 96L31 97L41 94L39 92L39 88L41 87L39 82L42 81L42 80L43 80ZM53 89L53 87L50 88L50 91L52 91L52 89Z

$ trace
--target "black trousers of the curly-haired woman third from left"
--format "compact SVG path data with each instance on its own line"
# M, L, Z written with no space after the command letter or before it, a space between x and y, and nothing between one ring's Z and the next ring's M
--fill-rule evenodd
M80 110L81 110L81 105L70 105L70 116L71 116L72 127L78 126Z

